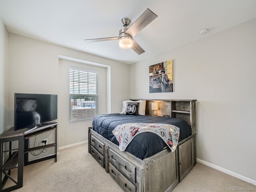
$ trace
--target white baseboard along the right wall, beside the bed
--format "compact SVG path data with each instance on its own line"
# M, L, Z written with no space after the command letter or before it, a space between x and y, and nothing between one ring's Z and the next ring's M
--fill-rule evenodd
M214 168L214 169L219 170L219 171L221 171L221 172L224 172L224 173L226 173L226 174L232 175L232 176L234 176L234 177L236 177L236 178L238 178L238 179L241 179L241 180L244 180L244 181L246 181L246 182L248 182L248 183L251 183L251 184L256 185L256 181L255 181L255 180L252 180L252 179L250 179L250 178L248 178L248 177L242 176L242 175L240 175L240 174L237 174L237 173L235 173L235 172L232 172L232 171L230 171L230 170L227 170L227 169L224 169L224 168L222 168L222 167L216 166L216 165L214 165L214 164L211 164L211 163L209 163L209 162L206 162L206 161L201 160L201 159L198 159L198 158L196 158L196 160L197 160L197 162L199 162L199 163L202 163L202 164L207 165L207 166L209 166L209 167L211 167L211 168Z

